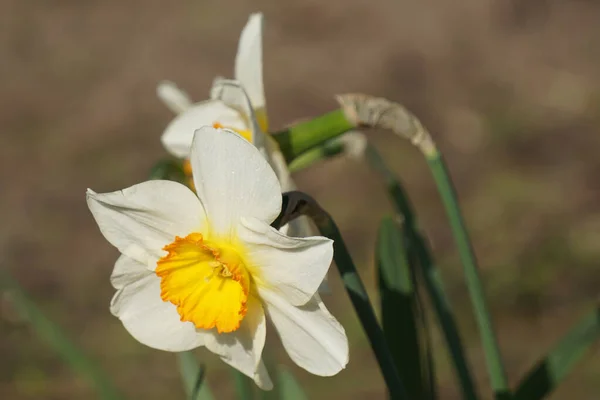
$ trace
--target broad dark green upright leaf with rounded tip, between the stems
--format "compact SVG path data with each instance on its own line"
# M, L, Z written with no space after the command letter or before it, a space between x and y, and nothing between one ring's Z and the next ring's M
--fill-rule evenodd
M410 398L431 399L433 365L429 343L423 340L424 316L409 264L402 228L391 217L383 219L377 236L376 261L383 332ZM413 263L414 256L411 257ZM425 338L427 339L427 338Z

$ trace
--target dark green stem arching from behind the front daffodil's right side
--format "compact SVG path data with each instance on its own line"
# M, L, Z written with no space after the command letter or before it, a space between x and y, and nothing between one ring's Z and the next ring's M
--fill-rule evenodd
M273 223L273 226L279 228L300 215L309 216L321 234L333 240L333 259L344 282L348 297L350 297L354 310L375 353L375 358L388 387L390 397L394 400L407 399L406 390L398 374L381 326L377 321L367 290L360 279L354 261L333 218L311 197L301 192L288 192L284 194L282 214Z

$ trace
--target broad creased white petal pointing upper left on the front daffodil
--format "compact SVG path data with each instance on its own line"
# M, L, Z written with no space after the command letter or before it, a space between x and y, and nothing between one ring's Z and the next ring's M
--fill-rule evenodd
M202 233L206 227L202 204L176 182L143 182L112 193L88 189L86 198L106 240L152 270L175 236Z

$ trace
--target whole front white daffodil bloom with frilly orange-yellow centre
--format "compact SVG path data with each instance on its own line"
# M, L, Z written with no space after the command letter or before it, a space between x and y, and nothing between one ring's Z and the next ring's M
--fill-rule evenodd
M270 226L281 210L279 182L238 134L199 129L190 161L196 193L160 180L88 190L102 234L122 253L111 312L150 347L206 346L270 389L261 360L266 316L296 364L316 375L338 373L348 341L316 293L332 241L288 237Z

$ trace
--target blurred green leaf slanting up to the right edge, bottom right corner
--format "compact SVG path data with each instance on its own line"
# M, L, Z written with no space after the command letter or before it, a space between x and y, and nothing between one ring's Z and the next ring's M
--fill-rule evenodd
M519 383L515 400L539 400L549 395L577 361L600 338L600 307L582 318Z

